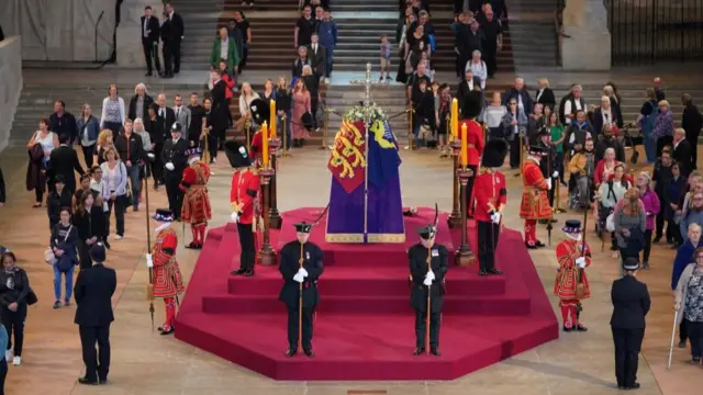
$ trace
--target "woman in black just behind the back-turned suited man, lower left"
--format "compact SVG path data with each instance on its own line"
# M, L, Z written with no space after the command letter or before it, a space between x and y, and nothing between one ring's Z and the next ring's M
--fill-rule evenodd
M109 150L108 155L110 153L114 154L114 150ZM102 212L102 206L94 205L94 203L96 200L92 193L81 194L78 208L74 215L74 225L78 230L76 245L78 247L80 269L88 269L92 266L89 253L90 247L99 240L103 240L105 235L105 214ZM124 211L122 211L122 215L124 215Z

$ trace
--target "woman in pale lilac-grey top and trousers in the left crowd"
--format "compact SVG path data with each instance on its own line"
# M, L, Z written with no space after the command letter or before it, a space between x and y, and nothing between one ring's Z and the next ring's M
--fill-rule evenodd
M102 177L108 184L108 191L110 193L110 198L108 199L108 212L104 217L104 239L110 235L110 216L114 208L114 218L116 222L114 239L120 240L124 237L124 207L130 203L127 199L127 169L120 160L115 149L109 149L105 153L105 157L108 160L100 165Z

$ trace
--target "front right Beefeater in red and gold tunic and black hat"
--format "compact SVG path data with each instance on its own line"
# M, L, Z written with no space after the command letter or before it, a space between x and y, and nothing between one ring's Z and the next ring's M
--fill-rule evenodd
M591 287L584 270L591 264L591 250L582 240L583 232L580 221L567 221L561 230L567 238L557 245L559 269L554 283L554 294L559 297L563 331L585 331L588 329L579 323L577 309L581 300L591 296Z

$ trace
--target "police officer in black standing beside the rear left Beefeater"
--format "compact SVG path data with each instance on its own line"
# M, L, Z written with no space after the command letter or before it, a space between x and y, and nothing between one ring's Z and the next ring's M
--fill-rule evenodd
M183 193L178 188L183 177L183 170L188 166L188 142L182 138L182 127L176 122L171 126L171 139L164 143L161 150L161 163L164 163L164 183L168 195L168 208L176 215L176 221L180 219L180 206Z

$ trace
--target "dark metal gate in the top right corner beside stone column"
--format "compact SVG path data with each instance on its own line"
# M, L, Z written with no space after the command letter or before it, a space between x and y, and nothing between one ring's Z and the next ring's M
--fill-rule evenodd
M703 58L700 0L605 0L613 66Z

